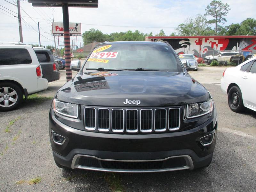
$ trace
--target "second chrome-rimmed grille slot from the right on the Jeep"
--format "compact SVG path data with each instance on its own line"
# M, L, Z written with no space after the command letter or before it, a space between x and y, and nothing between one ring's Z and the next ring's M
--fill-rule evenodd
M155 131L166 130L166 109L155 109Z

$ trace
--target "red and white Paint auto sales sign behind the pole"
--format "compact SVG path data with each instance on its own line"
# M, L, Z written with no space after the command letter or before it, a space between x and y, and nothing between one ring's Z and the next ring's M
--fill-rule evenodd
M69 32L70 32L70 36L82 36L81 23L69 23ZM63 23L59 23L59 22L52 23L52 35L64 36Z

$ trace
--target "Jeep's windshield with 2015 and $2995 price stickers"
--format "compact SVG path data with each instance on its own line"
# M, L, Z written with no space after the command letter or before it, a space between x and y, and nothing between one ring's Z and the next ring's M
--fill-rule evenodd
M85 69L156 69L183 72L171 47L163 44L100 44L85 63Z

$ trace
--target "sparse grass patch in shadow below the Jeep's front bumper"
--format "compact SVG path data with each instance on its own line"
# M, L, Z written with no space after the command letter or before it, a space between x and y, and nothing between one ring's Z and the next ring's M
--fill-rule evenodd
M104 179L108 182L108 185L113 192L124 191L120 175L115 173L105 173Z

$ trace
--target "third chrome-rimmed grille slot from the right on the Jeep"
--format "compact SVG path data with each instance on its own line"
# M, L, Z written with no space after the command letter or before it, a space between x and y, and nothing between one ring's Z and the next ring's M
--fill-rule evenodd
M153 112L152 109L140 110L140 131L151 132L152 131Z

